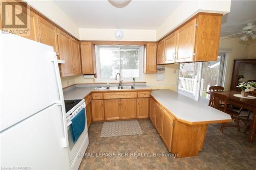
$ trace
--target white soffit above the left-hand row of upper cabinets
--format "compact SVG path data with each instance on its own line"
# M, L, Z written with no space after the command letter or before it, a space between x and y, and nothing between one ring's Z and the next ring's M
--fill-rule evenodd
M62 27L74 37L79 39L79 30L77 25L52 1L25 1L27 1L29 5L31 5L42 15L45 15L58 26Z

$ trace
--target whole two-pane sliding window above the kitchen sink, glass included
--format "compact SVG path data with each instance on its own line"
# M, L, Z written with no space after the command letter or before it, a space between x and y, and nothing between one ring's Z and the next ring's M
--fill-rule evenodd
M95 51L97 82L116 82L118 72L124 81L142 81L143 46L96 45Z

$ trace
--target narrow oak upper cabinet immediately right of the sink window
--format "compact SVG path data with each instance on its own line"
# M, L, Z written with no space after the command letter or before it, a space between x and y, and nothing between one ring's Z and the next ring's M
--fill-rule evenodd
M144 73L151 74L157 72L157 43L147 43L144 45Z

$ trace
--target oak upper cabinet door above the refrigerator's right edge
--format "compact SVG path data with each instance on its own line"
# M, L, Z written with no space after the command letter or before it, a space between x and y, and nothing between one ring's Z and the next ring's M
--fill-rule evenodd
M40 42L53 46L54 51L59 55L57 27L46 19L38 16Z

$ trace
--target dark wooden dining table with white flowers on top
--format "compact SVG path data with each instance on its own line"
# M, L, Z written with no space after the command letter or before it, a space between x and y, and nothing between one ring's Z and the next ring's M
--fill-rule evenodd
M234 96L234 94L241 94L239 91L213 91L214 93L224 94L228 97L228 103L233 106L244 106L244 108L251 108L253 111L252 126L250 130L249 141L253 142L253 136L256 128L256 99L245 99ZM208 91L207 94L210 94Z

